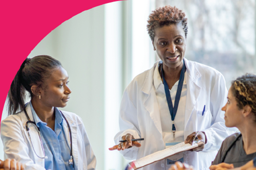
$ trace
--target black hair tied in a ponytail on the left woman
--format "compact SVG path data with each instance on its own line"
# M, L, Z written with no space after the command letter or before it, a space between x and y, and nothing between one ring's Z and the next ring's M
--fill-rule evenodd
M14 77L8 92L8 115L23 111L26 91L32 97L31 86L42 86L44 80L50 77L53 69L57 67L61 67L61 63L50 56L26 58Z

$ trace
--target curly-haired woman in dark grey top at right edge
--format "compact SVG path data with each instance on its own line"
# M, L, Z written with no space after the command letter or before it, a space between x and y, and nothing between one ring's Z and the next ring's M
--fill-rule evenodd
M244 75L232 81L227 95L225 125L240 132L228 136L210 166L210 170L256 169L256 76ZM253 159L253 160L252 160ZM169 170L193 170L176 162Z

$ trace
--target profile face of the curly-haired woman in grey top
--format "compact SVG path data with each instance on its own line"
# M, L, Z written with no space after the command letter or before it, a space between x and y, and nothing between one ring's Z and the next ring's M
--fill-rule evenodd
M227 103L221 110L225 111L226 127L238 127L242 123L244 118L243 109L239 109L237 106L237 101L231 91L231 87L228 90Z

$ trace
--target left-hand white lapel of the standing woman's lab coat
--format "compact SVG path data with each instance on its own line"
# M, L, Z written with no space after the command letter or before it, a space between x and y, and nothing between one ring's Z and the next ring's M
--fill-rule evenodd
M153 85L153 74L154 74L154 69L157 65L158 65L158 62L156 62L154 64L154 67L152 67L150 71L148 71L141 91L148 95L147 98L145 98L145 101L143 101L143 105L145 109L148 111L148 113L150 114L157 130L162 134L159 106L158 106L156 92Z

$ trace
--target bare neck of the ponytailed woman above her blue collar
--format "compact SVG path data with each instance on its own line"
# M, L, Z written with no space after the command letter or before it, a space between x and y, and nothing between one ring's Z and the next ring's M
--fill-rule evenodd
M39 99L31 99L32 106L42 122L50 123L55 121L54 107L43 105Z

